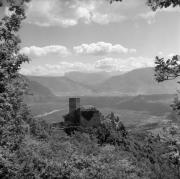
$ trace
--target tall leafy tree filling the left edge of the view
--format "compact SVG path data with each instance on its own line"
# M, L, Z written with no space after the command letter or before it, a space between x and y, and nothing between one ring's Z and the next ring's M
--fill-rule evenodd
M15 155L25 134L26 86L19 69L28 57L19 53L18 31L25 19L26 2L29 0L0 0L0 6L9 11L0 21L0 178L13 176Z

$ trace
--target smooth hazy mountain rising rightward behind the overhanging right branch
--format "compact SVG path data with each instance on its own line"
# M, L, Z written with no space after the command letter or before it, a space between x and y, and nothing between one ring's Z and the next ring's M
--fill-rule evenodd
M113 76L96 86L96 90L112 94L174 94L177 80L157 83L153 68L135 69L119 76Z

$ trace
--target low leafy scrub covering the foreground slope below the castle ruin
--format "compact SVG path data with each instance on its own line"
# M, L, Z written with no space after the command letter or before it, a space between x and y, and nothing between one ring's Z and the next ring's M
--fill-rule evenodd
M179 178L180 147L147 132L129 132L126 147L98 144L96 135L60 130L27 138L11 178Z

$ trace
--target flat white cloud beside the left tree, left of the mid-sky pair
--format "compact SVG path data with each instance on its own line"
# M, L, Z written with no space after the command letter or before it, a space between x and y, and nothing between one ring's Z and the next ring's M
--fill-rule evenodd
M66 57L70 54L68 49L65 46L61 46L61 45L50 45L44 47L37 47L37 46L24 47L20 50L20 52L35 57L42 57L48 54L57 54L61 57Z

